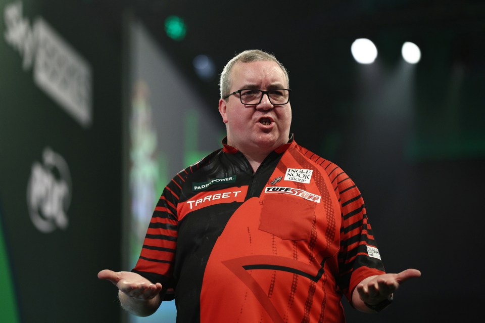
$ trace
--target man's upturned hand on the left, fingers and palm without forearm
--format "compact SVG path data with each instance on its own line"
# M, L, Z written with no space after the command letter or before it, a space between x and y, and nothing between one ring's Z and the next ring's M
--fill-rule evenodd
M162 284L153 284L148 279L130 271L101 270L99 279L105 279L113 283L120 292L137 300L150 300L160 294Z

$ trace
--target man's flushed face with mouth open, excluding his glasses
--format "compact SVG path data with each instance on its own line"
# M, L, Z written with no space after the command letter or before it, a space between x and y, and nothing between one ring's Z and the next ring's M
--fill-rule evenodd
M243 88L270 90L288 88L286 77L276 62L237 62L231 71L230 92ZM263 95L259 105L241 103L239 94L219 100L219 112L226 123L227 144L245 154L269 153L288 141L292 107L272 105Z

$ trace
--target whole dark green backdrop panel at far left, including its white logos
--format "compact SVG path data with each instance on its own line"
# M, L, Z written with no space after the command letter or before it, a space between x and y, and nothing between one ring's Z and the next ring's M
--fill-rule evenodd
M0 0L0 321L119 322L121 37L88 2Z

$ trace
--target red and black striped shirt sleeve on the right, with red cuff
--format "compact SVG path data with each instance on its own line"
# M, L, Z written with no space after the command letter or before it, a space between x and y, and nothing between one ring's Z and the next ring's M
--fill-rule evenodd
M382 261L369 257L367 246L377 248L367 218L364 200L354 181L334 163L302 148L300 151L323 167L341 207L340 251L338 252L338 286L351 301L351 294L362 279L384 272Z

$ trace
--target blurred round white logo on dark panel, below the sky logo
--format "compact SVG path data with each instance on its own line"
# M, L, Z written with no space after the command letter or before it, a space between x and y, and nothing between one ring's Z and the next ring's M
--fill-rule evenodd
M66 229L67 210L71 203L71 174L61 155L50 148L42 154L43 163L34 162L27 184L27 206L30 219L42 233Z

